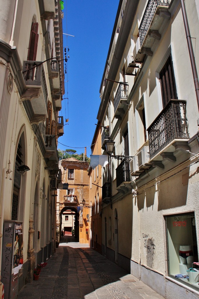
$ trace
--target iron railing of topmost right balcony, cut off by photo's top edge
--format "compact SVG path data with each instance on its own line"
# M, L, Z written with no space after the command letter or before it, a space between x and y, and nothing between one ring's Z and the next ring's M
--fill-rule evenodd
M140 46L142 46L147 30L149 29L149 26L155 14L156 8L158 7L158 5L169 7L169 2L170 0L149 0L139 27Z

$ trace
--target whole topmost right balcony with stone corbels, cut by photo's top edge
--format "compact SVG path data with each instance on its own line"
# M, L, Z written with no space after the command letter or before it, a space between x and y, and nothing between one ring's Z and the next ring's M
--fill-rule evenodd
M140 52L152 56L154 39L161 39L160 28L170 19L168 11L171 0L149 0L139 27Z

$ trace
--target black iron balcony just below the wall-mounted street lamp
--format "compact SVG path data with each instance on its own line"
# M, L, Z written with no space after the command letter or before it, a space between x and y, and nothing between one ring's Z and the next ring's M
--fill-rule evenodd
M125 193L132 189L129 162L122 161L116 168L116 189L120 193Z

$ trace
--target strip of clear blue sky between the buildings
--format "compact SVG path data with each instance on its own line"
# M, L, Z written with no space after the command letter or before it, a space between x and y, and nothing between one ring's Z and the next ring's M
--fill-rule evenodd
M64 0L63 33L75 37L63 35L63 46L70 58L63 96L68 100L62 101L59 114L64 116L59 149L73 148L80 154L87 147L90 157L100 105L99 89L118 4L119 0ZM69 118L67 124L65 118Z

